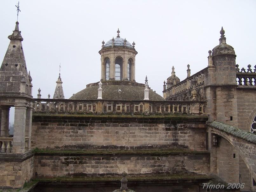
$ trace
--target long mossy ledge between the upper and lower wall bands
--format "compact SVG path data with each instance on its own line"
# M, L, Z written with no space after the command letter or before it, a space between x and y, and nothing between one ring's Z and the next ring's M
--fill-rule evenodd
M189 149L118 149L118 150L46 150L36 149L36 156L179 156L179 155L210 155L209 151Z

